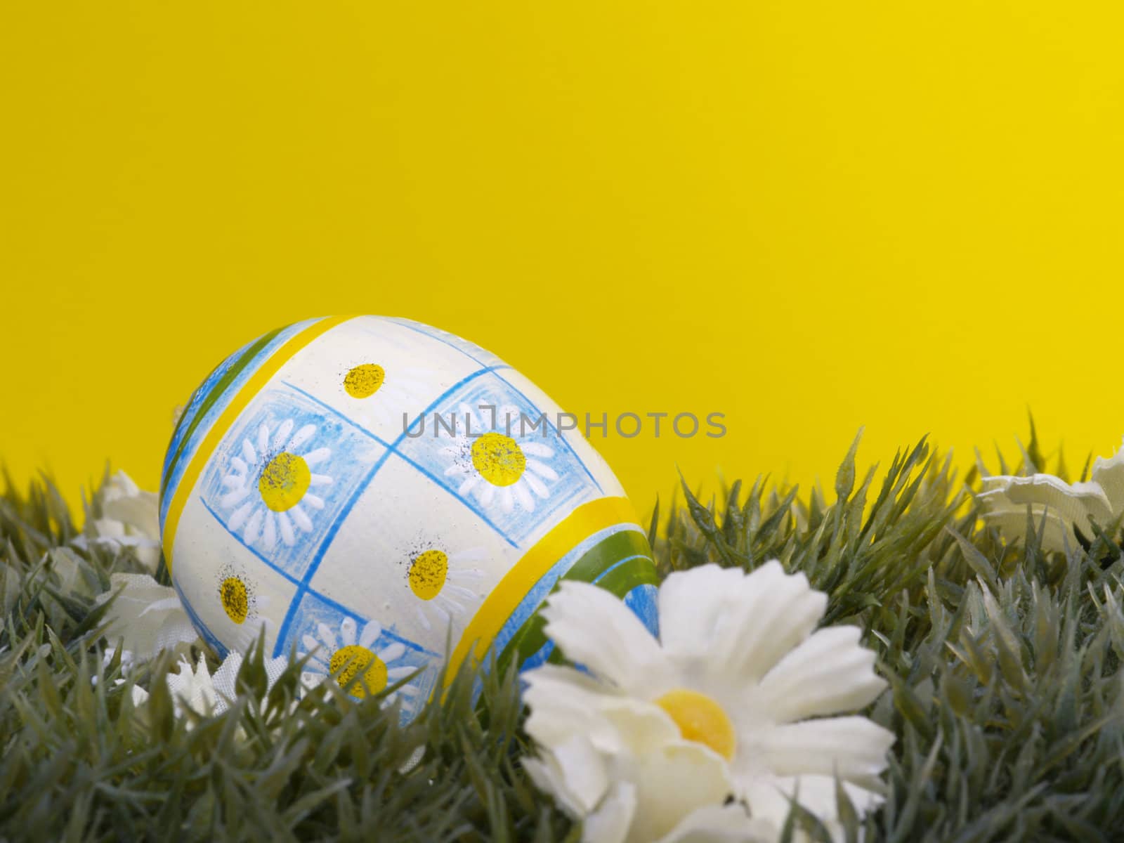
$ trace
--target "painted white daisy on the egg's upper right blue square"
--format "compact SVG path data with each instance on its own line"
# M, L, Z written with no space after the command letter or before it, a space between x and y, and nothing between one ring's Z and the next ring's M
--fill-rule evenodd
M490 411L462 404L456 422L456 437L442 452L452 463L445 477L461 481L457 495L473 495L484 509L504 513L516 505L533 513L536 498L551 496L549 483L559 479L549 464L554 448L533 438L536 432L516 407L499 407L491 418Z

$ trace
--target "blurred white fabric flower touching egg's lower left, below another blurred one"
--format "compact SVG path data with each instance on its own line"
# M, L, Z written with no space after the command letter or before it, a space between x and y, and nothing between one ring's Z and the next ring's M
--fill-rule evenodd
M105 635L115 646L124 640L123 649L134 659L146 661L176 647L182 651L199 640L175 589L161 586L148 574L115 573L109 578L109 591L98 596L98 605L115 593Z

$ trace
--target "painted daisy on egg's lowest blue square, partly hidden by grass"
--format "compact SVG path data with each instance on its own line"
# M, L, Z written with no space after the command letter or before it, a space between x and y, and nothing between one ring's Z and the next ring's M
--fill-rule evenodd
M306 672L301 674L305 686L315 688L333 673L339 671L336 681L341 687L345 687L356 674L362 674L362 680L353 685L350 694L353 697L363 698L368 694L379 694L387 686L414 673L417 669L409 665L392 667L392 662L406 655L406 645L401 642L392 642L383 647L375 649L375 642L382 635L382 624L378 620L368 620L362 632L354 618L345 617L339 623L338 632L327 624L316 625L316 635L305 635L301 637L303 645L300 656L309 655L306 664ZM365 687L364 687L365 686ZM408 685L398 688L392 694L388 694L384 705L390 705L399 695L406 698L407 707L414 704L414 697L418 694L417 688Z

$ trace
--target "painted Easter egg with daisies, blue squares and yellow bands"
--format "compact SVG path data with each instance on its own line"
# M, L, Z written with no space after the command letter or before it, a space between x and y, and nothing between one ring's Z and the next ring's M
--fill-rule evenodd
M309 319L223 361L164 457L164 558L219 654L268 654L415 715L464 664L541 664L563 580L655 632L655 570L620 483L534 383L452 334ZM492 658L495 656L495 659Z

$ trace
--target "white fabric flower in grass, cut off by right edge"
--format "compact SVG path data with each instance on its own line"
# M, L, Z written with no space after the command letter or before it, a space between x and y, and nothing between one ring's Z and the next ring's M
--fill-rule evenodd
M982 481L977 495L982 506L980 517L998 528L1009 542L1026 536L1026 506L1034 517L1034 529L1045 516L1042 546L1063 552L1078 546L1075 528L1086 540L1093 540L1093 524L1108 527L1124 511L1124 447L1111 459L1098 456L1093 463L1090 480L1067 483L1053 474L1013 477L996 474Z

